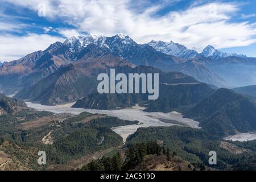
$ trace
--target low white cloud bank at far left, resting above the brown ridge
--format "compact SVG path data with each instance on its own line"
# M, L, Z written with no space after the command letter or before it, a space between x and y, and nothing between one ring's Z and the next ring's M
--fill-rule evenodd
M64 40L46 34L29 34L27 36L0 35L0 60L12 61L39 50L44 50L50 44Z

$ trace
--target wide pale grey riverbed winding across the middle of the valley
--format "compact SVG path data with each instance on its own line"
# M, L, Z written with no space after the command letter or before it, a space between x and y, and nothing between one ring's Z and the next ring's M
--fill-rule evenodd
M171 113L149 113L143 111L143 107L134 106L132 108L119 109L119 110L97 110L97 109L82 109L82 108L71 108L73 103L57 106L46 106L41 104L32 104L26 102L28 107L32 107L39 111L51 111L52 113L71 113L80 114L84 111L93 114L106 114L112 117L118 117L119 119L126 119L129 121L139 121L137 125L126 125L120 127L114 127L112 130L121 135L125 142L130 134L137 131L139 127L150 127L150 126L188 126L193 128L200 128L199 122L193 119L183 118L181 113L173 111Z

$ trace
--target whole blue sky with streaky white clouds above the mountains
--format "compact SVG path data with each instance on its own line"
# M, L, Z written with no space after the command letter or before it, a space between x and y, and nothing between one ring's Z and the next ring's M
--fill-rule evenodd
M211 44L221 51L256 57L256 1L0 2L0 60L18 59L87 33L123 33L138 43L172 40L198 51Z

